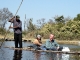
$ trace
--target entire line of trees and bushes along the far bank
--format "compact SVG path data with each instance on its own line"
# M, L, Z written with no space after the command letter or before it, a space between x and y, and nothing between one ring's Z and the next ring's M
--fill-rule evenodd
M5 25L12 16L13 14L8 8L0 9L0 34L5 33ZM80 14L74 18L57 15L49 19L48 22L42 18L36 20L36 24L33 23L33 18L24 20L23 35L35 37L40 34L43 38L49 38L50 33L59 40L80 40Z

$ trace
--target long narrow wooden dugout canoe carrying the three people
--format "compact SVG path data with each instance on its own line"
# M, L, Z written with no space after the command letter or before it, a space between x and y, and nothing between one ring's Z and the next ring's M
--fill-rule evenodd
M78 54L80 55L80 51L52 51L52 50L35 50L33 48L23 47L23 48L15 48L15 47L5 47L12 50L25 50L25 51L38 51L38 52L52 52L52 53L64 53L64 54Z

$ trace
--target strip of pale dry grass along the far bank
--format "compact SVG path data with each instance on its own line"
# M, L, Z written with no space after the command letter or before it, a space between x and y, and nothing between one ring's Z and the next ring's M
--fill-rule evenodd
M0 39L1 38L4 38L5 36L4 35L0 35ZM7 34L6 35L6 38L5 39L13 39L14 35L13 34ZM23 40L31 40L31 42L33 42L35 40L34 37L31 37L31 36L26 36L26 35L23 35ZM47 39L43 39L42 38L42 43L45 43ZM80 41L79 40L57 40L55 39L59 44L73 44L73 45L78 45L80 44Z

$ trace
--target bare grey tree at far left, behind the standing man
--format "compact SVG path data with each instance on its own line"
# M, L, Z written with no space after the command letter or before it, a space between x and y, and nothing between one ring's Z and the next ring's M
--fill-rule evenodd
M5 28L7 21L13 16L8 8L0 9L0 28Z

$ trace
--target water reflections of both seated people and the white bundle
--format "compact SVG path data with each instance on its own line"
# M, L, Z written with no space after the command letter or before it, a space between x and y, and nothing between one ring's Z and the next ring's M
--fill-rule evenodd
M34 52L34 60L70 60L70 56L62 53Z

